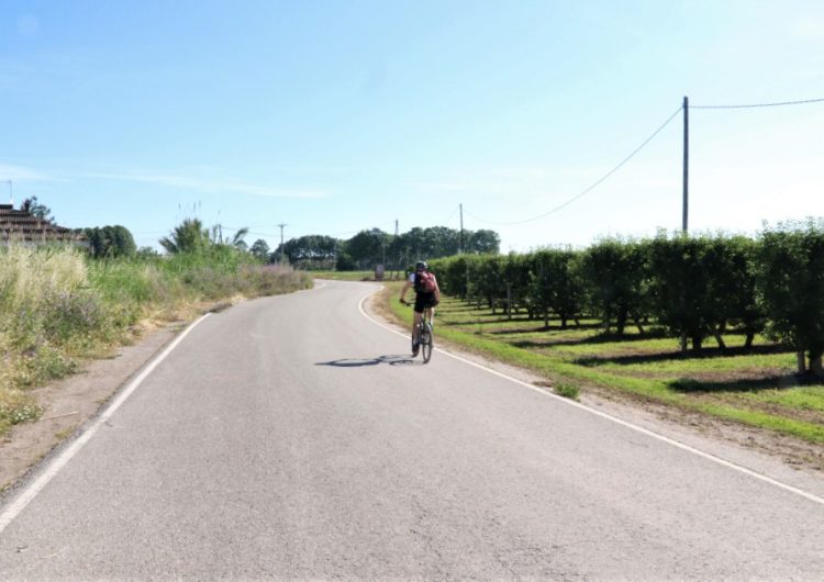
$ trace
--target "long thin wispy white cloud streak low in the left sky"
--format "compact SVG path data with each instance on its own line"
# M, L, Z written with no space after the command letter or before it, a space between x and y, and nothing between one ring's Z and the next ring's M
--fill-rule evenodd
M154 183L212 194L235 193L268 198L326 198L330 195L330 192L323 190L278 189L234 180L204 180L202 178L169 174L86 174L83 176L126 182Z

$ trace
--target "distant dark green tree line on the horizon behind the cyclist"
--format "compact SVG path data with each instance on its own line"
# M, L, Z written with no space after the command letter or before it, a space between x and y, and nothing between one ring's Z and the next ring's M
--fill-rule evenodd
M390 235L380 228L360 231L349 239L308 235L292 238L272 253L270 260L280 259L281 253L289 262L305 269L357 270L403 269L409 262L448 257L460 250L467 254L495 254L500 237L493 231L464 231L445 226L414 227L407 233Z

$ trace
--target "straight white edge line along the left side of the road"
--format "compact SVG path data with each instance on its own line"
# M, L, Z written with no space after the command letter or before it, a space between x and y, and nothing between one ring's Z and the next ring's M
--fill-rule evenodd
M194 323L192 323L189 327L187 327L183 333L181 333L179 336L175 338L175 340L166 346L166 349L164 349L159 356L157 356L155 359L152 360L152 362L146 366L146 368L143 369L143 371L137 374L126 387L120 392L120 394L116 395L116 398L112 401L111 404L109 404L109 407L103 412L98 418L89 426L79 437L77 437L68 447L66 447L52 462L48 463L48 466L43 470L43 472L35 479L32 483L30 483L23 491L21 491L16 497L14 497L14 501L12 501L5 510L0 513L0 534L3 533L3 530L7 528L7 526L18 516L20 513L25 508L31 501L37 496L37 493L40 493L43 488L48 484L48 482L63 469L66 463L68 463L71 458L77 455L77 452L86 445L86 443L89 441L89 439L94 436L94 433L98 432L98 428L109 421L109 418L114 414L114 411L116 411L125 401L129 399L132 393L137 390L137 387L141 385L141 383L151 374L157 366L166 359L166 357L171 354L171 351L177 347L180 342L183 340L183 338L191 332L196 325L198 325L200 322L205 320L209 316L209 313L205 315L202 315L199 320L197 320Z

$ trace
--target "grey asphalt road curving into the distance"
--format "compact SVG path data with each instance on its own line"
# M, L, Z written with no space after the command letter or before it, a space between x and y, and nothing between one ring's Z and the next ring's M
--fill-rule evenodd
M411 360L375 289L203 320L0 531L0 579L824 578L821 503Z

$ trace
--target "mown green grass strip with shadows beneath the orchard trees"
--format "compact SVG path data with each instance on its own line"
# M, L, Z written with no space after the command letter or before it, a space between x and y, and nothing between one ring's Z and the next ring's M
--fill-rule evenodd
M411 313L387 293L389 310L404 324ZM650 331L652 329L652 331ZM588 388L617 391L677 410L824 444L824 384L799 379L795 354L757 337L744 350L744 337L727 335L726 350L708 344L700 357L683 356L678 340L649 326L625 337L604 335L598 321L543 321L525 314L493 313L443 298L435 317L436 337L487 357L526 368L556 391L575 395Z

